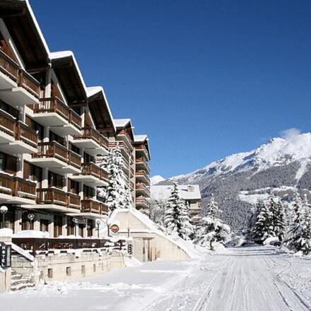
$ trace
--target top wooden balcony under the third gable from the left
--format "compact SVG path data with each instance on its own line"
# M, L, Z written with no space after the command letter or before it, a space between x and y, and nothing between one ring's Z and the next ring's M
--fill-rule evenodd
M90 155L108 152L108 140L93 127L83 127L81 134L74 135L72 143L78 148L85 148Z

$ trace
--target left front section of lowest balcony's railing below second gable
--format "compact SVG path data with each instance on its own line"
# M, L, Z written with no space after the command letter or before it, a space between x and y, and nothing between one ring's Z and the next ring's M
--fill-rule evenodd
M67 206L67 193L54 187L37 189L37 204Z

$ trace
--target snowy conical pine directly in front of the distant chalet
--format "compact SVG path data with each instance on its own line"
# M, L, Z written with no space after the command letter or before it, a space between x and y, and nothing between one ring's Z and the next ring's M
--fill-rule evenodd
M190 223L189 209L185 201L180 198L177 183L173 184L172 192L165 206L163 223L168 233L179 235L184 240L189 240L194 232Z

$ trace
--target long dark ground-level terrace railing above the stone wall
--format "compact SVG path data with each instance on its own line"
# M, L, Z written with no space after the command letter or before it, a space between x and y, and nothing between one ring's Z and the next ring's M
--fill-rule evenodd
M13 237L12 242L23 250L30 251L33 256L37 254L46 254L53 250L78 250L78 249L96 249L96 248L112 248L112 250L125 250L125 240L112 242L103 239L66 239L65 238L38 238L38 237ZM111 246L112 245L112 246Z

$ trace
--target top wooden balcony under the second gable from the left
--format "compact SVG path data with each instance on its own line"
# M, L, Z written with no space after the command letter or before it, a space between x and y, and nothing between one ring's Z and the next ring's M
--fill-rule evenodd
M41 98L38 104L29 105L33 119L60 136L81 134L81 117L59 98Z

